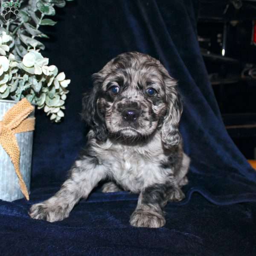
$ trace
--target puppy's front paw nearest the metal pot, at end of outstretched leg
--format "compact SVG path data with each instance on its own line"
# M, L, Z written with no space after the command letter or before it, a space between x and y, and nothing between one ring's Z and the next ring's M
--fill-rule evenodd
M68 207L61 207L58 205L52 206L45 202L33 204L29 209L31 218L45 220L49 222L62 221L69 215Z

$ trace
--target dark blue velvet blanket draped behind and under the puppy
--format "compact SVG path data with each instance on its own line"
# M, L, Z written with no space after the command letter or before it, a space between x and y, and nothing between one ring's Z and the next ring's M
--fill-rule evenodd
M75 0L45 29L50 64L72 79L65 119L37 112L30 201L0 201L0 255L256 255L256 172L228 136L198 47L196 0ZM209 28L210 29L210 28ZM31 204L58 191L87 128L80 121L90 76L121 52L160 59L179 81L180 124L191 159L186 199L166 226L129 225L138 195L95 189L63 221L31 219Z

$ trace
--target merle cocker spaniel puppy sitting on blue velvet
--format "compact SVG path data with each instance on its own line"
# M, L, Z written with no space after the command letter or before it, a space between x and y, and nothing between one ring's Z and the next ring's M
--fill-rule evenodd
M67 218L81 198L101 180L103 192L139 193L130 218L135 227L162 227L163 207L185 196L189 157L178 125L182 113L176 81L160 61L128 52L93 74L84 96L82 117L90 126L81 157L61 189L34 204L30 216L47 221Z

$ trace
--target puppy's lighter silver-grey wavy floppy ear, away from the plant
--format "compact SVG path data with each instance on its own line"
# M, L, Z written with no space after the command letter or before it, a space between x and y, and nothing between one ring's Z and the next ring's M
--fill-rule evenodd
M177 91L177 81L167 71L164 75L166 86L166 102L168 104L166 116L161 129L162 142L165 148L171 148L180 143L181 137L179 128L182 104L180 94Z

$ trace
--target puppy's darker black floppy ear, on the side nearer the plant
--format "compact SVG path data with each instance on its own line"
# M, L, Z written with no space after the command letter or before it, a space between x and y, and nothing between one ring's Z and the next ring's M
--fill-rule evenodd
M95 134L97 140L106 140L108 137L108 130L105 124L103 114L98 108L99 90L101 80L99 73L93 74L93 88L90 92L85 93L82 99L82 113L81 117L85 120Z

